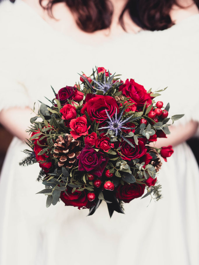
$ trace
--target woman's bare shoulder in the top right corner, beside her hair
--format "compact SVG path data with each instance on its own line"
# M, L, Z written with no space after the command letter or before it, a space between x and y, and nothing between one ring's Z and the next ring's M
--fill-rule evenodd
M175 24L178 24L192 15L199 14L198 7L193 0L180 0L179 4L183 8L174 5L170 13L171 19L175 22Z

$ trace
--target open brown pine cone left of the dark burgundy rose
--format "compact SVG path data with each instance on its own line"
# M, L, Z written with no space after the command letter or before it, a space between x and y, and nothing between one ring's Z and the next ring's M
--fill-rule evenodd
M71 134L66 134L65 139L59 136L54 144L54 157L59 158L58 166L71 168L81 153L81 142L75 140Z

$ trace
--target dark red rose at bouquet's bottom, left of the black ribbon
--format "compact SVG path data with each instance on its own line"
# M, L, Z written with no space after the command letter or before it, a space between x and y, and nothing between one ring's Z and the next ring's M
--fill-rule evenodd
M71 187L67 187L67 194L63 191L61 192L60 199L65 203L65 206L74 206L80 208L90 208L94 205L93 202L90 202L87 198L87 194L85 190L78 191L72 193Z

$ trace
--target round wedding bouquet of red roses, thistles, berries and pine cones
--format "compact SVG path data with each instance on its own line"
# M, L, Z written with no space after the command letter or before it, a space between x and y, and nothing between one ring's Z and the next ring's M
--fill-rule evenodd
M31 119L31 137L20 164L38 162L38 180L47 195L46 207L62 200L66 206L90 209L92 215L102 200L109 215L124 213L123 203L151 195L160 199L157 173L173 153L172 146L155 148L151 142L170 134L169 104L154 101L133 79L103 67L90 77L82 74L81 84L66 86L55 93L47 106ZM174 115L171 120L183 115ZM41 118L42 120L38 120Z

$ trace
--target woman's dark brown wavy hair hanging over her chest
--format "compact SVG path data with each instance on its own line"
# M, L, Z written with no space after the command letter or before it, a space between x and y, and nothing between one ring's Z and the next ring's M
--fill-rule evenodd
M15 0L10 1L15 2ZM39 0L40 5L48 10L52 17L52 7L56 3L66 3L78 27L86 32L107 29L111 24L113 6L110 0L48 0L46 6L43 6L42 2L43 0ZM199 8L199 0L194 2ZM151 31L167 29L174 25L170 17L174 4L180 6L178 0L129 0L119 17L119 22L125 29L123 15L127 11L131 19L142 29Z

